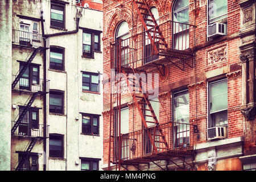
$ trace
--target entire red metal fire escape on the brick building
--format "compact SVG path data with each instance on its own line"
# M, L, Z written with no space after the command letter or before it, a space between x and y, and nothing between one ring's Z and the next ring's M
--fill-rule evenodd
M182 71L185 70L185 65L192 68L193 50L190 45L193 45L193 39L195 38L193 35L195 26L173 21L167 21L159 25L146 0L133 1L133 7L138 14L139 20L141 20L144 31L141 34L133 35L124 40L119 39L110 44L110 60L111 67L115 69L115 73L122 74L125 78L129 93L133 97L135 107L137 107L139 116L142 119L143 128L123 135L120 133L119 127L119 131L117 131L119 134L113 134L112 121L115 120L121 126L121 117L114 118L113 110L119 113L118 115L121 115L122 93L110 93L109 169L110 163L116 164L116 169L118 165L120 170L121 166L125 168L124 165L132 165L138 168L138 164L155 163L156 160L166 160L174 157L180 158L186 163L184 157L193 154L192 141L189 146L174 146L174 139L172 138L174 122L159 123L148 94L143 92L143 83L139 79L138 73L146 73L147 69L152 68L158 68L160 72L160 68L165 68L170 63ZM181 28L181 30L176 30L176 27ZM187 35L193 37L193 39L189 39L189 46L180 46L180 42L182 44L188 42L183 40L184 37L187 38ZM182 40L175 42L177 39L175 36L179 36ZM147 61L147 63L145 63L146 57L143 56L145 48L142 46L145 44L146 39L150 41L150 56L158 56L158 59ZM164 69L162 71L160 74L164 75ZM129 73L133 75L133 78L129 77ZM121 82L122 79L119 78L114 84L119 86ZM116 105L113 104L113 97L115 97L114 103ZM115 107L114 109L113 106ZM147 118L151 118L150 121L147 121ZM177 126L178 124L176 123L175 125ZM194 128L193 125L188 125L188 127L190 131ZM145 147L143 147L146 140L151 146L147 154L145 154Z

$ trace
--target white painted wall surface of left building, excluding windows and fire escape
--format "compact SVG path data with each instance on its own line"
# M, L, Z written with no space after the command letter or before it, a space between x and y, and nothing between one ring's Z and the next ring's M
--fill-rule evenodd
M51 2L60 3L64 6L64 24L63 29L53 28L51 22ZM54 170L54 171L80 171L81 160L96 159L98 161L98 169L102 166L102 138L103 138L103 123L102 123L102 72L103 72L103 57L101 41L102 34L100 34L100 51L94 52L94 58L86 58L82 53L83 31L84 28L90 30L96 30L102 32L102 11L86 9L84 7L77 7L75 0L33 0L33 1L21 1L14 0L13 6L13 27L9 27L9 33L12 30L19 30L20 22L24 24L30 24L32 28L32 22L38 20L38 34L56 34L60 32L67 32L67 35L49 36L47 38L47 50L45 54L46 64L44 63L44 52L38 52L31 64L38 65L39 77L43 79L46 76L46 80L49 80L49 92L52 90L59 90L63 92L63 114L56 114L49 112L49 93L46 94L46 102L44 96L36 97L33 102L33 108L39 109L39 124L49 125L49 135L59 134L63 136L63 158L56 158L49 156L49 138L43 142L38 140L32 148L31 154L38 156L38 169L41 170ZM26 16L28 19L25 17ZM34 20L29 20L32 18ZM79 18L79 28L77 30L76 19ZM43 19L43 26L41 20ZM2 19L0 19L2 21ZM31 30L30 30L31 31ZM71 32L71 34L69 34ZM1 40L2 41L2 40ZM5 41L5 40L3 40ZM7 41L7 40L6 40ZM11 47L11 42L9 43ZM13 43L14 44L14 43ZM50 47L57 46L64 48L64 69L58 71L49 68L50 61ZM24 47L20 45L13 45L12 52L10 52L10 59L12 63L8 73L11 79L12 75L15 75L20 69L20 61L25 61L28 53L31 52L31 47ZM7 57L8 58L8 57ZM2 58L1 58L2 60ZM2 69L1 69L2 70ZM85 92L82 90L82 72L97 73L100 76L99 85L100 90L97 93ZM9 79L9 80L10 80ZM13 80L12 80L13 81ZM6 83L7 84L7 83ZM18 84L17 84L18 85ZM10 86L10 85L9 85ZM6 90L6 89L5 89ZM3 92L1 92L3 93ZM16 89L8 90L6 98L10 96L11 102L6 102L9 109L8 123L14 121L16 116L19 115L19 107L23 106L32 92L20 92L18 86ZM2 102L2 97L1 97ZM45 103L44 103L45 102ZM14 107L16 108L14 108ZM44 114L46 111L46 115ZM82 134L82 113L96 114L99 116L99 134ZM6 113L8 114L8 113ZM1 113L2 115L2 113ZM10 121L9 121L10 120ZM46 123L44 123L46 121ZM9 130L11 125L5 126ZM3 127L1 126L1 130ZM18 129L17 129L18 131ZM24 152L27 144L30 142L29 137L11 136L11 133L1 132L8 134L5 138L9 145L6 144L5 150L10 155L6 160L10 166L1 166L2 169L13 170L18 162L18 155L20 152ZM3 136L4 137L4 136ZM2 148L2 147L1 147ZM1 152L1 155L3 153ZM9 159L9 160L7 160ZM1 161L0 161L1 162Z

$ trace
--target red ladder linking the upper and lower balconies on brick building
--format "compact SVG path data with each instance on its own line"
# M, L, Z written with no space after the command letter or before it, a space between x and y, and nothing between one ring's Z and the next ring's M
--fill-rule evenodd
M150 142L151 142L152 147L153 147L153 152L155 154L157 154L160 149L168 150L169 146L168 146L168 143L166 141L166 137L164 136L164 133L163 133L162 129L160 129L160 127L159 127L159 122L158 122L158 119L157 119L157 117L155 115L154 109L152 108L152 105L150 104L150 100L148 99L147 94L144 93L143 90L142 90L142 82L138 80L138 78L136 76L136 72L135 72L134 69L133 69L133 72L134 72L134 75L135 75L135 81L131 81L126 76L126 83L127 83L127 86L128 86L128 88L130 90L131 96L133 96L133 100L134 100L135 105L137 106L137 109L139 111L139 115L141 115L144 128L145 129L149 128L148 127L148 123L154 123L155 124L155 126L150 127L150 130L147 130L148 138L150 139ZM124 75L127 75L124 69L122 70L122 73ZM132 84L130 84L129 81L131 81ZM137 93L135 93L135 92L137 92L137 90L133 90L131 85L133 85L133 87L134 87L134 85L139 85L139 90L142 91L143 96L137 96ZM139 99L139 101L137 101L138 99ZM144 102L142 102L143 100L144 100ZM147 105L148 109L143 108L143 106L141 107L140 106L141 104L142 105ZM150 111L151 115L144 114L145 110ZM152 117L154 119L154 122L146 121L146 119L145 119L146 117ZM154 128L154 133L151 133L150 131L153 128ZM158 140L155 140L156 138L160 138L160 137L162 137L162 141L161 142L158 141ZM164 148L163 148L163 146L160 146L159 143L163 143L164 144Z

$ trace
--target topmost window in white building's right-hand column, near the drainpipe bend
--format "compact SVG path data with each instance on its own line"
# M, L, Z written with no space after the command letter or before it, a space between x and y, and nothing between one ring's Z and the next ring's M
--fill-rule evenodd
M94 52L100 52L100 32L84 31L82 33L82 53L85 57L94 58Z

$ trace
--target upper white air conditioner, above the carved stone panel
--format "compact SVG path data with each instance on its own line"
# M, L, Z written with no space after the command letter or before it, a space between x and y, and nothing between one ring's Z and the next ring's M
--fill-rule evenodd
M225 23L213 23L207 27L207 37L214 38L216 36L226 35L227 26Z

